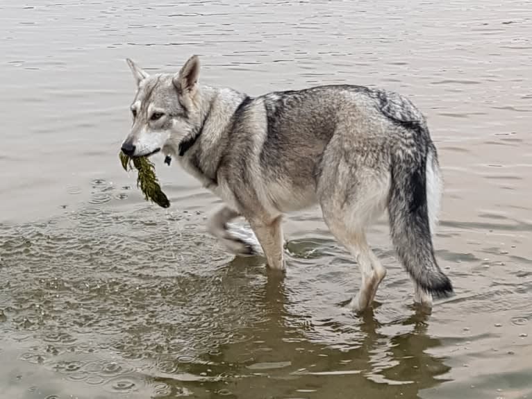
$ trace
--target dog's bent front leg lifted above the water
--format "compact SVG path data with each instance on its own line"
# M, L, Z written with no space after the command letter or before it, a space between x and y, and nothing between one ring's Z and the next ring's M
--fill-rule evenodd
M253 244L243 238L235 237L227 229L227 223L240 216L238 211L224 205L208 221L208 231L219 239L219 241L235 255L253 256L257 255Z

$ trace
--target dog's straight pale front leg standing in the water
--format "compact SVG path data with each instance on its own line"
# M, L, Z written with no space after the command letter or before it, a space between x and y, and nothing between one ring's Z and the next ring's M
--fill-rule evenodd
M250 221L251 228L260 242L260 246L263 247L268 266L276 270L285 269L282 219L282 216L279 216L268 223L262 220Z

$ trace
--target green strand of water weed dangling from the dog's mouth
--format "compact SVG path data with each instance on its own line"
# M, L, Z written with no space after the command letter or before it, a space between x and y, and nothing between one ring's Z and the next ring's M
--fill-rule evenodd
M133 166L138 171L137 187L140 187L140 191L144 194L146 201L152 201L160 207L170 206L170 201L163 193L163 190L160 189L159 182L155 176L155 165L147 157L131 158L120 151L119 158L125 171L133 170L133 167L131 167L131 161L133 161Z

